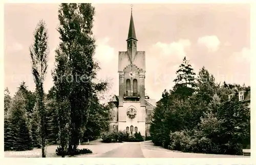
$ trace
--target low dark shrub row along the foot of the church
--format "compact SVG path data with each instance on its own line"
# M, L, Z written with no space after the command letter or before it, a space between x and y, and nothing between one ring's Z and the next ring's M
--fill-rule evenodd
M114 131L114 132L104 132L101 135L103 143L112 142L143 142L144 137L141 133L129 133L125 131Z

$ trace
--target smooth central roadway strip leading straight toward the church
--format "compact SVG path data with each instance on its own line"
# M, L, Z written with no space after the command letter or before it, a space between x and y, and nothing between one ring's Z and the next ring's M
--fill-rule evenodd
M124 143L120 147L105 152L103 154L97 155L96 157L126 157L126 158L139 158L144 157L140 143Z

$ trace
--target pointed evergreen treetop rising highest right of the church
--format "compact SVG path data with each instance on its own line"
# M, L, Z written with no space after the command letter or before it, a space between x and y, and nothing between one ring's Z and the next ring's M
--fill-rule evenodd
M174 93L184 99L191 96L196 87L194 69L189 64L186 57L184 57L182 64L179 66L179 69L176 71L177 78L174 79L175 86L173 88Z

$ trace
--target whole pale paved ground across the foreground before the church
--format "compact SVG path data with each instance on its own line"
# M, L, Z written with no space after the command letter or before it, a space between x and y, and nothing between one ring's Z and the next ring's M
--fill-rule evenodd
M57 157L55 150L58 145L47 147L47 157ZM154 146L151 141L146 142L124 142L124 143L101 143L100 141L91 142L90 145L79 145L79 149L88 148L93 154L82 154L75 157L126 157L126 158L250 158L250 156L240 155L215 155L199 153L183 153L170 151L159 146ZM22 153L31 153L24 155ZM39 153L39 155L35 155ZM5 157L41 157L41 150L30 151L5 151Z

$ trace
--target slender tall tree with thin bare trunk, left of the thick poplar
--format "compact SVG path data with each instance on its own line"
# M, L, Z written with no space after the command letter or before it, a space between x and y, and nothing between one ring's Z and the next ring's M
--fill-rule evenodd
M46 23L40 20L34 32L34 43L30 47L30 56L32 60L32 74L36 86L36 98L39 113L39 133L42 157L46 157L46 132L47 118L44 103L44 80L47 72L48 61L48 33Z

